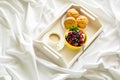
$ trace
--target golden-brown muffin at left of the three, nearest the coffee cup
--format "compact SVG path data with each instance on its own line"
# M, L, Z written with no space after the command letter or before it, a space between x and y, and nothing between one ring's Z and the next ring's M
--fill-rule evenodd
M64 21L64 26L68 29L71 26L77 26L77 22L74 17L67 17Z

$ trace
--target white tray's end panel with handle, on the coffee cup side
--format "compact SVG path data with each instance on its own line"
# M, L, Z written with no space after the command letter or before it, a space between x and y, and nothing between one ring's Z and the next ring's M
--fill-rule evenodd
M53 62L60 66L67 67L66 62L63 59L62 55L60 55L57 51L48 46L48 44L42 41L35 41L34 44L38 46L39 49Z

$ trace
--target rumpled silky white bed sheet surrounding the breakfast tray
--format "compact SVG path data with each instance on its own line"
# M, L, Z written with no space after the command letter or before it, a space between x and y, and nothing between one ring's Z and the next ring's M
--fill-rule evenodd
M33 40L69 4L98 16L102 34L70 68L33 46ZM119 0L0 0L0 80L119 80Z

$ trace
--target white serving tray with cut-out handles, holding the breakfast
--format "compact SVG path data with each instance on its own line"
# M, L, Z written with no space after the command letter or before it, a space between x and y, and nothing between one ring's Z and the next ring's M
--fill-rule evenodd
M55 19L48 27L45 29L39 37L36 39L37 43L34 42L34 45L40 46L39 49L53 60L56 64L64 67L70 67L77 58L83 53L82 50L75 51L67 48L64 45L64 28L62 25L62 19L65 17L66 11L70 8L75 8L80 11L80 14L84 14L89 18L89 24L85 28L85 31L88 35L88 42L86 43L84 50L86 50L90 44L99 36L102 32L102 26L97 19L97 16L84 8L83 6L77 6L74 4L69 5L61 15ZM60 36L59 43L55 43L50 40L48 36L55 33Z

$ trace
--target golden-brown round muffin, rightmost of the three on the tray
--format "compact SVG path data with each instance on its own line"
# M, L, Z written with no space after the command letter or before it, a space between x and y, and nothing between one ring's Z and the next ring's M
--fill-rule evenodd
M81 15L79 16L77 19L77 25L80 27L80 28L85 28L88 24L88 18L84 15Z

